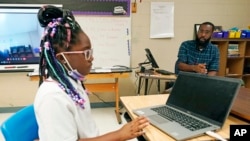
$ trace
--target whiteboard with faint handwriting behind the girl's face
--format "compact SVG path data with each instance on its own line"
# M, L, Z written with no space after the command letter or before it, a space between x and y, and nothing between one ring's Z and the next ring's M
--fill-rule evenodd
M94 50L92 67L130 66L130 16L75 15Z

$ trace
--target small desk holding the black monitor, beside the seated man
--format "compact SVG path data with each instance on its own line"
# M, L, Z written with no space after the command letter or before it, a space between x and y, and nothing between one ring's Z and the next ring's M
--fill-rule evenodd
M136 75L139 77L139 84L138 84L138 90L137 94L140 94L141 86L142 86L142 79L145 80L145 89L144 89L144 95L148 94L148 80L157 80L157 89L158 93L160 93L160 80L168 80L168 81L174 81L176 80L176 75L162 75L156 72L151 73L141 73L136 72Z

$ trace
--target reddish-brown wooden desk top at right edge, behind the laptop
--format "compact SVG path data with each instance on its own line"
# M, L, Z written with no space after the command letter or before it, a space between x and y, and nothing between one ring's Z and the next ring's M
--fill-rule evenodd
M250 121L250 89L242 87L234 101L231 113Z

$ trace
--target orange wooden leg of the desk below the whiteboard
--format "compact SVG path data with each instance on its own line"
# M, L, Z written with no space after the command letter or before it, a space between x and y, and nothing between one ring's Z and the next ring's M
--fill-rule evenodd
M118 120L118 123L122 123L121 115L120 115L120 107L119 107L119 85L118 85L118 78L115 78L115 114Z

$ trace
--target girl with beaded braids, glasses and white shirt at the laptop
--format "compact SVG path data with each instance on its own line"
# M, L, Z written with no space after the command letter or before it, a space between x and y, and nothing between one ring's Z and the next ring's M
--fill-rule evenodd
M145 117L99 135L81 84L91 69L93 49L69 10L44 6L38 12L44 27L40 82L34 101L40 141L125 141L143 134Z

